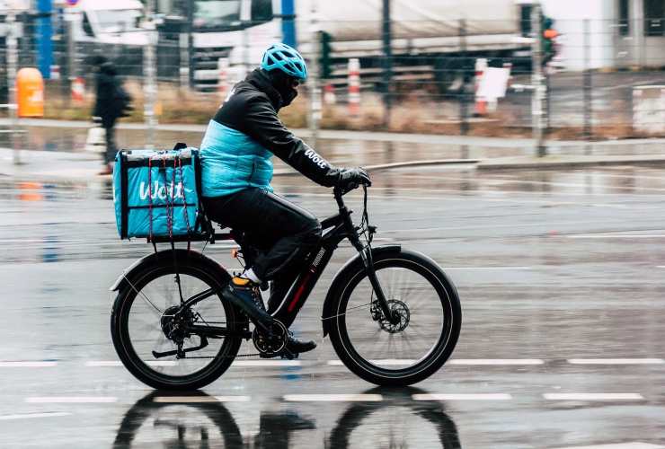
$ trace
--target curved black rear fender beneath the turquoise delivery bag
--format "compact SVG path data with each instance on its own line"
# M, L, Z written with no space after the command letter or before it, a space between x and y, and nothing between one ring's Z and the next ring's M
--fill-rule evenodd
M217 277L227 282L231 279L226 269L219 265L217 261L201 254L199 251L175 250L175 259L173 259L173 250L158 251L148 254L132 263L125 269L109 289L111 292L119 291L125 286L130 286L131 279L137 277L137 274L143 271L146 266L155 265L163 260L176 260L179 264L203 264L210 273L216 273Z

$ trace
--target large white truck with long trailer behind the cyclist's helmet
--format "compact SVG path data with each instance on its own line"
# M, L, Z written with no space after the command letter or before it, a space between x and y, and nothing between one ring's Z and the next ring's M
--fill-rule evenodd
M359 57L368 74L379 71L381 0L164 0L158 4L164 13L164 33L191 36L189 68L199 87L217 83L218 58L228 57L232 67L255 66L271 42L293 39L288 33L294 16L297 46L305 57L320 45L315 31L324 31L331 38L330 56L338 69L333 73L343 72L349 57ZM530 65L531 38L526 26L530 4L530 0L392 0L395 68L408 71L406 66L400 68L401 61L413 58L400 57L419 56L419 66L430 66L441 84L450 84L462 56L511 62L521 58ZM462 32L464 39L459 37Z

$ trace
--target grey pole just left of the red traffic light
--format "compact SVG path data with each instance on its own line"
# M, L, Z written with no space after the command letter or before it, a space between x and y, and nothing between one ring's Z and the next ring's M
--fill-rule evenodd
M545 77L543 76L543 50L541 48L541 5L534 3L531 10L531 30L534 36L534 42L531 50L532 74L531 84L533 94L531 97L531 123L533 128L533 137L536 145L536 154L543 157L547 154L543 129L545 128Z

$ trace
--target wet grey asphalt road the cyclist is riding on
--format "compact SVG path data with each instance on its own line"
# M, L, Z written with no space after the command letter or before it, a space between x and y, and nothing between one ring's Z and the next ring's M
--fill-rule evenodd
M665 172L373 178L377 244L425 252L457 285L464 321L448 364L399 390L335 364L319 317L345 247L293 327L319 348L296 364L244 359L186 398L118 365L108 286L151 248L117 238L109 181L0 178L0 446L665 447ZM334 212L307 180L273 185ZM236 267L225 244L206 253Z

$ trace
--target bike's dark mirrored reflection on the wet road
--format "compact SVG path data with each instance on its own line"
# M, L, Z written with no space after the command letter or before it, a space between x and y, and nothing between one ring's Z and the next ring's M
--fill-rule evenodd
M412 401L412 394L426 393L407 388L374 388L369 394L382 394L384 401L354 402L334 421L331 432L299 435L315 431L316 422L299 412L262 410L258 434L243 437L233 414L223 403L203 392L188 394L189 401L155 401L168 396L151 392L137 401L124 415L112 447L161 446L170 449L247 447L283 449L288 447L442 447L461 449L457 426L436 401ZM317 407L324 416L328 407ZM322 417L323 419L324 417ZM246 422L246 417L240 419ZM296 437L297 436L297 437ZM318 438L318 439L317 439Z

